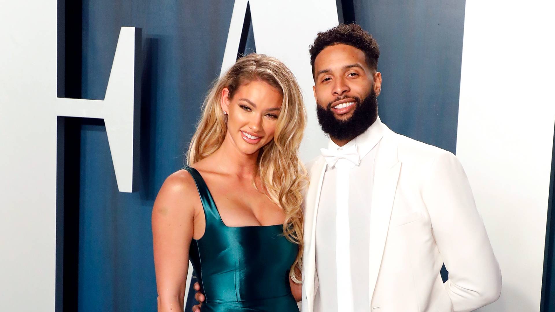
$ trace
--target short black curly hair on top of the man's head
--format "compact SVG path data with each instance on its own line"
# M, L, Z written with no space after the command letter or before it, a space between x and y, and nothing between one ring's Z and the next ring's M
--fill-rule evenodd
M311 44L309 49L312 76L314 76L314 60L316 56L318 56L324 48L335 46L335 44L347 44L361 50L366 55L366 64L373 71L377 71L380 47L376 39L359 25L351 23L339 24L339 26L316 34L314 44Z

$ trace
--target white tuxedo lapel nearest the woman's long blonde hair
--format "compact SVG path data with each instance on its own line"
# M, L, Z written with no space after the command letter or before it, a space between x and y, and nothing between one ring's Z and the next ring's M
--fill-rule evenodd
M314 279L316 273L316 215L320 202L320 192L324 182L326 161L319 157L309 168L310 184L305 200L305 254L302 268L302 311L312 312L314 309Z

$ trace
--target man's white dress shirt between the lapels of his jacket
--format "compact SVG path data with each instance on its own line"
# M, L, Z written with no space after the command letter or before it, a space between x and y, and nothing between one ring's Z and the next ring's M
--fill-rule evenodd
M338 203L344 200L340 210L349 214L349 229L339 229L349 234L350 249L350 280L354 311L369 311L369 237L370 237L370 203L372 200L372 184L374 183L374 160L382 133L371 125L364 133L339 147L331 139L329 150L340 150L356 145L360 164L350 165L345 169L346 159L339 159L334 167L328 165L324 174L322 192L316 217L316 274L319 288L315 294L315 312L346 311L347 298L337 299L337 272L345 270L346 265L336 263L336 213ZM339 168L338 168L339 167ZM338 170L347 170L347 185L337 187ZM341 172L339 174L341 176ZM345 192L348 188L348 192ZM339 200L339 201L338 201ZM341 234L341 233L340 233ZM342 241L345 242L345 241ZM341 243L341 242L340 242ZM348 266L347 266L348 268ZM326 272L318 274L318 272ZM349 306L349 305L347 305ZM349 308L347 308L349 309Z

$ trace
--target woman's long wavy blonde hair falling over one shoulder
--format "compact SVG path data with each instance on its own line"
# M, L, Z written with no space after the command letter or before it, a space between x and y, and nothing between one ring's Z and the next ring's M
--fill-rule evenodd
M299 245L290 276L295 283L300 283L297 270L300 272L302 268L302 192L308 179L299 159L299 145L306 125L306 112L301 89L289 68L264 54L253 53L238 59L216 80L204 100L201 118L189 144L187 163L192 165L208 157L224 142L228 128L227 116L220 105L222 90L228 88L229 99L232 99L241 85L254 80L278 89L283 98L274 139L264 145L258 155L258 177L263 192L285 211L284 235Z

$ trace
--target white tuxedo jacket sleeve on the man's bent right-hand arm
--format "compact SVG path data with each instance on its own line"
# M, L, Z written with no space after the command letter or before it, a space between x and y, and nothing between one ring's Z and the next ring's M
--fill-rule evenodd
M422 188L432 233L449 271L444 284L455 312L481 308L499 298L501 270L458 159L442 152Z

